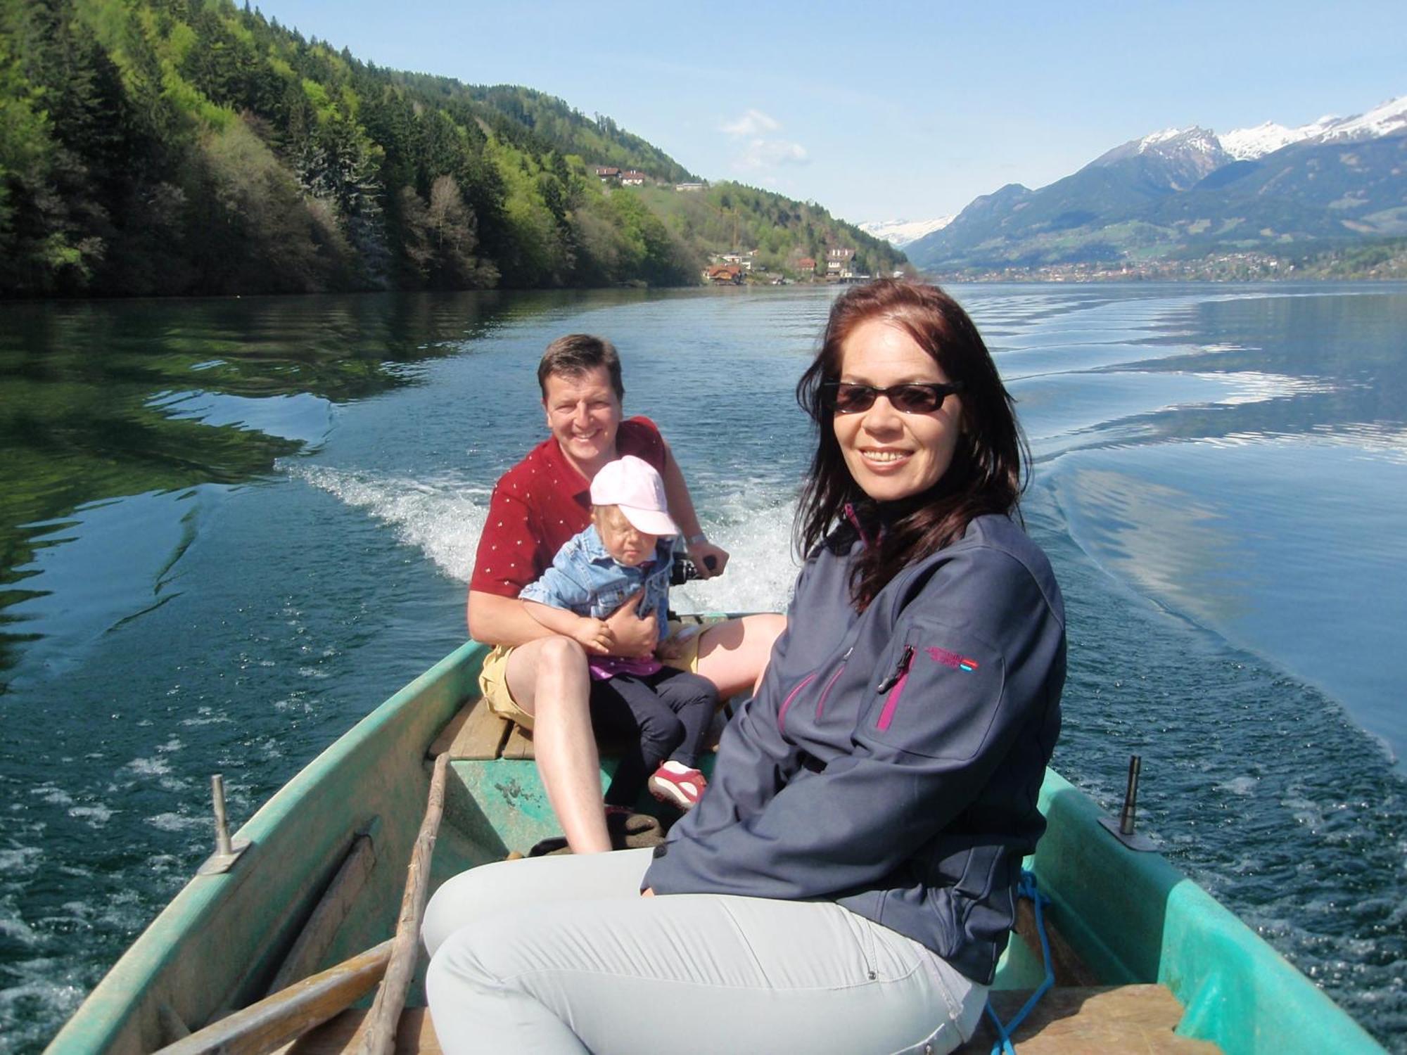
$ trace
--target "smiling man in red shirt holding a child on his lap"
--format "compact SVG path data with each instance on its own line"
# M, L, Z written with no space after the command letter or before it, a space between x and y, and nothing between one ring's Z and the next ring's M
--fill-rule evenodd
M727 553L709 543L668 443L649 418L622 419L620 360L611 342L584 333L559 338L537 366L552 436L504 473L494 487L469 584L469 633L495 646L480 686L488 706L533 730L537 769L563 833L578 854L611 850L601 802L599 757L591 731L590 674L581 646L553 634L518 599L552 564L561 544L591 518L591 478L625 454L664 478L670 515L705 578ZM636 615L632 598L606 620L615 656L646 656L658 640L656 616ZM750 688L785 626L779 615L711 626L696 656L671 660L712 681L720 698Z

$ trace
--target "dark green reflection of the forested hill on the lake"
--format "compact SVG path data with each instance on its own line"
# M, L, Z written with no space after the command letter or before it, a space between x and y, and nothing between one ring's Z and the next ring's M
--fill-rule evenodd
M129 540L111 533L115 509L136 522L170 506L162 495L259 480L279 457L321 443L336 404L415 384L418 363L457 354L505 318L564 298L8 305L0 328L0 692L20 650L38 637L73 644L75 633L142 610L138 599L158 588L146 575L117 589L128 596L125 608L107 603L108 573L87 574L83 537L101 535L108 558L165 547L160 558L132 556L124 574L179 560L183 520L173 509L170 522ZM93 505L115 498L128 501ZM83 629L61 615L76 608L86 612Z

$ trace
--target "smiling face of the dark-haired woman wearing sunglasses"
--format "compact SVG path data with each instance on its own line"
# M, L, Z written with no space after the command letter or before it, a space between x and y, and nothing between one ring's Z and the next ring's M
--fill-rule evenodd
M871 319L841 342L839 380L889 388L950 378L906 329ZM870 409L832 421L850 475L877 502L895 502L927 491L947 473L962 432L962 401L950 395L931 414L902 414L879 395Z

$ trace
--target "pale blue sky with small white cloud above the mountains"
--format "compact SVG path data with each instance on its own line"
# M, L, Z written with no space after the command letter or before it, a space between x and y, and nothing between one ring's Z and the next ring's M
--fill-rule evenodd
M1407 94L1407 3L265 0L360 59L526 84L705 179L846 219L957 212L1128 139Z

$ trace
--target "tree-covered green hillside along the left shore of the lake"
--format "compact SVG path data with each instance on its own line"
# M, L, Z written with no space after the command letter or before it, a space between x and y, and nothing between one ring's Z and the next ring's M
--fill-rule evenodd
M688 284L753 248L709 232L779 212L787 252L864 252L749 188L765 217L666 222L685 179L606 117L378 69L229 0L0 0L0 295Z

